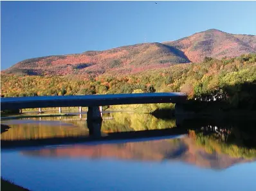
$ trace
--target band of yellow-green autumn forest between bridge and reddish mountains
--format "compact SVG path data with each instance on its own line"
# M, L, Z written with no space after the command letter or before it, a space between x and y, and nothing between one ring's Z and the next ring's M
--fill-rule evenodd
M87 78L68 76L1 75L5 97L37 95L120 94L132 92L187 92L190 98L219 95L238 104L255 104L256 54L232 59L205 58L202 63L172 65L127 76L101 75ZM253 97L254 96L254 97Z

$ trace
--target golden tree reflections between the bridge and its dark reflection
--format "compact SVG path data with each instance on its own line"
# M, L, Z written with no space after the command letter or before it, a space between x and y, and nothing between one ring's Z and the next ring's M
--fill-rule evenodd
M175 120L156 119L149 114L104 113L101 131L104 133L139 131L147 129L165 129L175 126ZM24 120L24 119L23 119ZM24 140L53 137L78 137L88 135L86 115L83 117L42 117L35 122L10 125L10 129L1 135L2 140ZM44 121L48 121L47 123Z

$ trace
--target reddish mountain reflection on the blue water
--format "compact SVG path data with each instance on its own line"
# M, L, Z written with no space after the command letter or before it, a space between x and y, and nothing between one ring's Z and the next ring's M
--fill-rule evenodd
M250 162L223 153L208 153L192 138L129 142L125 144L73 145L24 151L23 154L52 157L116 158L140 161L181 161L210 169L224 169L235 163ZM256 158L255 158L256 160Z

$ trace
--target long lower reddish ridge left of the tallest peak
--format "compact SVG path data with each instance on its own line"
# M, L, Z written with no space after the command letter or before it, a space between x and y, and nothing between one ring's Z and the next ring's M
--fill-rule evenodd
M107 51L32 58L15 64L7 73L44 74L118 74L168 67L172 63L188 63L187 56L175 47L160 43L136 44Z

